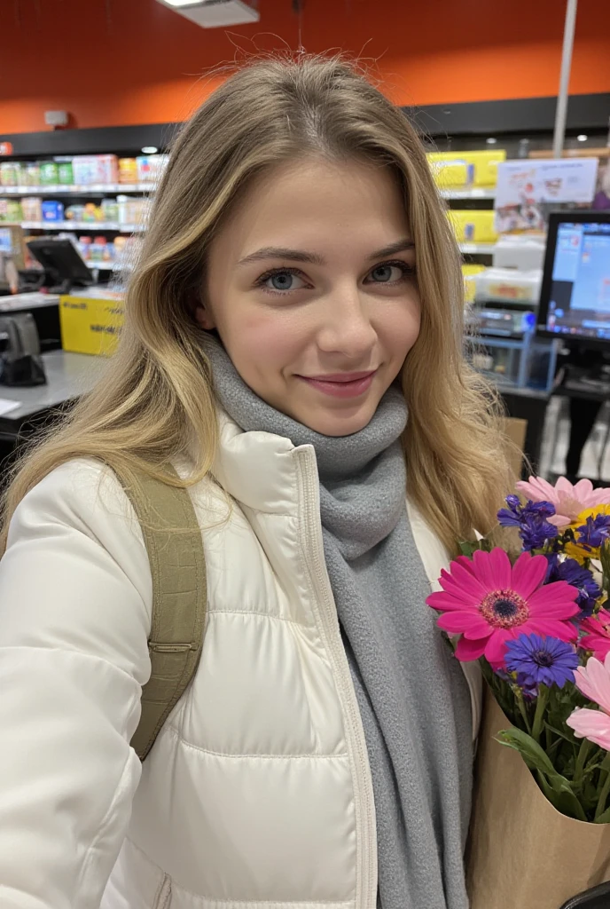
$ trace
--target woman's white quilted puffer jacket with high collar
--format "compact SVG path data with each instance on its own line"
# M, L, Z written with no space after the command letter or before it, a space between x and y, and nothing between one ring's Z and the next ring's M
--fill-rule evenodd
M0 565L2 909L375 909L369 762L315 454L223 419L214 473L234 506L226 519L211 479L191 490L202 661L143 770L129 741L152 584L131 505L81 461L15 513ZM409 513L434 584L446 554Z

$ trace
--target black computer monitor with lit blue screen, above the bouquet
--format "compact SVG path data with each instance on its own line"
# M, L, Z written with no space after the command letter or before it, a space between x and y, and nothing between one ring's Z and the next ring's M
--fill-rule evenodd
M610 212L549 216L537 334L610 345Z

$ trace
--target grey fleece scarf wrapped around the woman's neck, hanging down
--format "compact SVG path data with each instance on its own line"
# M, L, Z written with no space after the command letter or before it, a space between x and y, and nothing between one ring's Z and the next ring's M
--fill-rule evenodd
M425 604L399 441L404 397L390 388L359 433L320 435L255 395L215 338L204 347L241 429L315 448L324 554L369 751L382 909L467 909L470 699Z

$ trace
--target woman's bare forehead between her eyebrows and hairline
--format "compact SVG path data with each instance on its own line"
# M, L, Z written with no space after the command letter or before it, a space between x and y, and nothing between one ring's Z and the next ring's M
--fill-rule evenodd
M344 241L372 248L408 235L397 175L389 166L304 159L257 176L241 194L213 246L248 255L256 245ZM211 250L212 252L212 250Z

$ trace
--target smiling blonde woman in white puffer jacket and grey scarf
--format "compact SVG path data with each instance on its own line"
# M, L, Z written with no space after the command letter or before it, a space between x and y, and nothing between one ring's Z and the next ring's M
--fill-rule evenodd
M508 468L406 117L337 59L233 75L126 314L5 503L3 907L465 909L477 679L425 599ZM152 574L104 464L175 466L205 548L201 662L143 765Z

